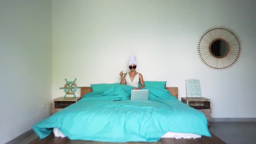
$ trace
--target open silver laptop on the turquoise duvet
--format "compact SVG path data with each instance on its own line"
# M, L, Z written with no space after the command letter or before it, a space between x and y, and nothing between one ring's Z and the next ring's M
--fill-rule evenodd
M148 89L131 90L131 101L148 101Z

